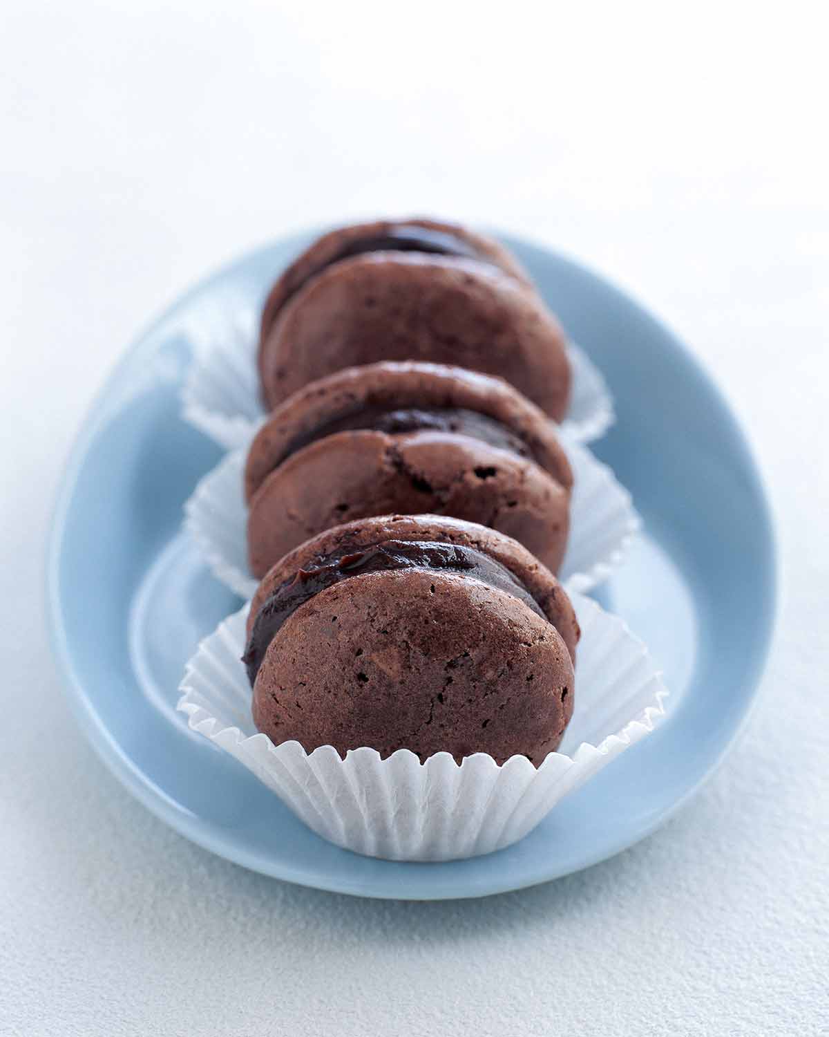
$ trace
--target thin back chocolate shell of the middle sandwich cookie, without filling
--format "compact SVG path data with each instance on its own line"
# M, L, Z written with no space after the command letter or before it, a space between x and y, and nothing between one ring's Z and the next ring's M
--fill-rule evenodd
M363 409L464 409L505 425L526 444L530 455L566 489L573 474L555 426L504 379L466 368L430 363L379 362L348 367L318 379L281 403L254 438L245 472L250 502L291 444Z

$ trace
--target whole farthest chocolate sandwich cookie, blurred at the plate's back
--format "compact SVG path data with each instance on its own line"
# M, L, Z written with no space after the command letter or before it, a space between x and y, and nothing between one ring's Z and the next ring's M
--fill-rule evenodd
M320 375L380 360L498 374L561 421L570 397L565 337L496 242L431 220L344 227L285 271L259 342L269 408Z

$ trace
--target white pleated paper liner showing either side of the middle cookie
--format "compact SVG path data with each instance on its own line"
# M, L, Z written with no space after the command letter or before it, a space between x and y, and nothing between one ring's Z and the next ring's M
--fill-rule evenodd
M568 588L588 591L622 562L640 521L630 494L606 465L587 447L565 437L562 446L575 481L570 536L559 579ZM240 597L251 597L259 583L248 568L247 454L247 445L227 454L184 504L184 529L213 574Z

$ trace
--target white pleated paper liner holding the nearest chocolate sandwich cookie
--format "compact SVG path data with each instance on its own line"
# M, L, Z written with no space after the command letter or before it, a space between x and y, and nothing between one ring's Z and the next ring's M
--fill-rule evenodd
M275 746L251 719L240 662L248 606L226 619L188 663L178 708L190 727L234 756L309 828L369 857L450 861L509 846L565 796L644 738L664 716L648 650L617 616L573 594L581 624L575 709L561 751L538 768L523 756L498 766L477 753L421 763L406 749L388 759L368 748L345 760L331 746Z

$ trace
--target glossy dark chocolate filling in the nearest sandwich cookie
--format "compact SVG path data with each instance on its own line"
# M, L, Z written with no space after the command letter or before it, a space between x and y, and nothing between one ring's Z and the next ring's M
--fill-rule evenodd
M342 580L366 572L400 569L429 569L457 572L517 597L543 619L538 601L510 570L474 548L424 540L383 540L371 546L344 548L337 554L317 559L313 567L299 569L281 583L256 614L251 636L241 656L253 686L270 642L285 620L320 591Z

